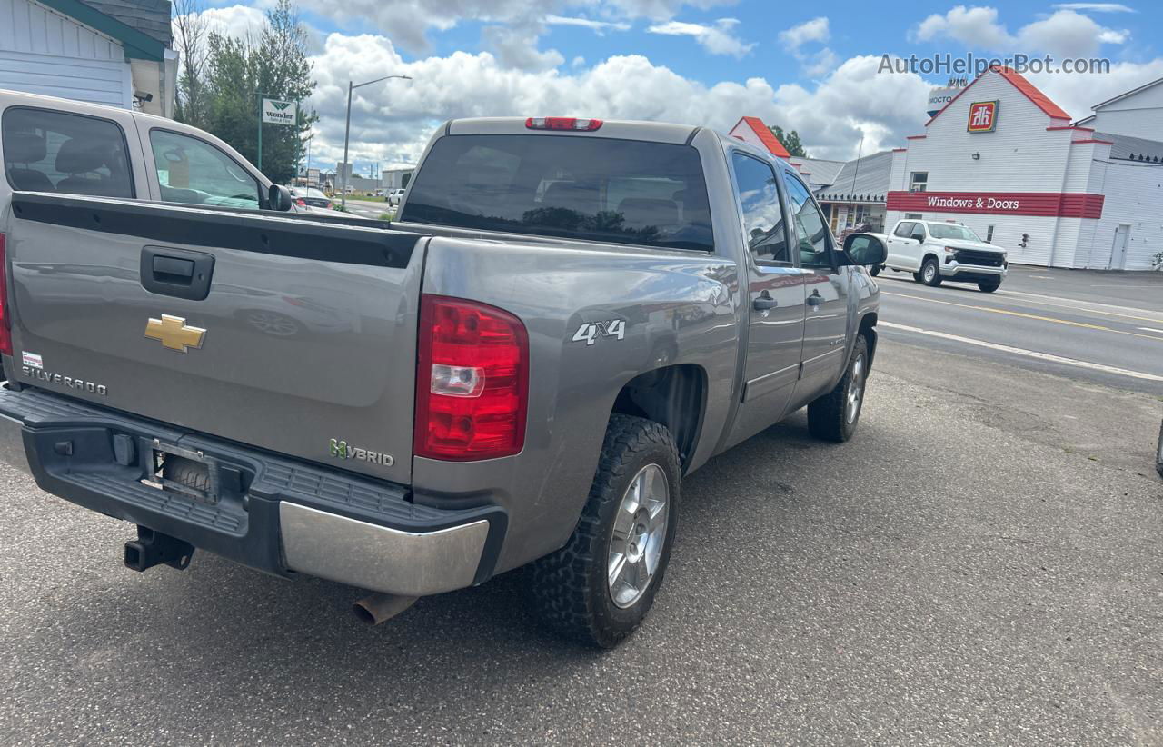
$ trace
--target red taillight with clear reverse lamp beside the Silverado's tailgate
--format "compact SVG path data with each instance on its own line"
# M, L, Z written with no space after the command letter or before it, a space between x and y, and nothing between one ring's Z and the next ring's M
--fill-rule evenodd
M529 336L513 314L459 298L420 301L413 451L488 460L525 446Z

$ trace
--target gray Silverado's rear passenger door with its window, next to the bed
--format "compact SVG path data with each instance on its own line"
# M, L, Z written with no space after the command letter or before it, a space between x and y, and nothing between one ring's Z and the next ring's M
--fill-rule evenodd
M730 442L737 443L783 417L799 379L804 335L804 273L779 200L771 164L732 152L747 242L743 276L748 291L749 334L743 403Z

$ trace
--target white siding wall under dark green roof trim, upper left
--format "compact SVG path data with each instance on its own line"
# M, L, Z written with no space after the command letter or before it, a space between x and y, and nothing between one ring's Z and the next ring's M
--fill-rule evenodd
M30 0L0 0L0 88L133 104L121 45Z

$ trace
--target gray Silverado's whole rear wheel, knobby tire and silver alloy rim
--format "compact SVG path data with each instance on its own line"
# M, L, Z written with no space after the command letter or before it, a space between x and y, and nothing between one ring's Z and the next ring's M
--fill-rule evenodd
M533 564L533 597L550 627L601 648L637 629L670 561L679 475L670 431L644 418L611 418L577 528Z

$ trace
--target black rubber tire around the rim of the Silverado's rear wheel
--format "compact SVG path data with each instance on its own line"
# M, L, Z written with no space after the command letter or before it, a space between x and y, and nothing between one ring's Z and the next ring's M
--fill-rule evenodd
M650 464L658 465L668 481L664 541L645 590L623 609L614 604L607 575L611 538L622 497ZM678 448L670 431L644 418L611 418L577 528L565 547L533 563L534 604L545 624L571 640L599 648L613 648L637 629L666 572L678 526L679 478Z

